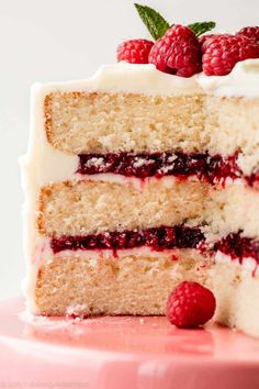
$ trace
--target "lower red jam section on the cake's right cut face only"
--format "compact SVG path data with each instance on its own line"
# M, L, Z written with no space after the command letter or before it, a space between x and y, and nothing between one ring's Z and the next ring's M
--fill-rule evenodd
M254 258L259 263L259 241L241 235L241 231L235 234L228 234L214 246L215 251L219 251L233 259L243 263L244 258Z

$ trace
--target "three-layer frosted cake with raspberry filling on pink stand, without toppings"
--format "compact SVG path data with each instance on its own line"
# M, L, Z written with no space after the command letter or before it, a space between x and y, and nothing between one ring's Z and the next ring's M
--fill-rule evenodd
M35 85L23 158L33 314L162 315L183 280L259 335L259 59L184 78L121 62Z

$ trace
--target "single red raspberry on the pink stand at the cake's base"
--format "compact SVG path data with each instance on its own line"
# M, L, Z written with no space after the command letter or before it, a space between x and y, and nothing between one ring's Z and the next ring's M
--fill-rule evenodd
M196 327L213 316L215 308L216 301L211 290L198 282L184 281L168 298L167 318L178 327Z

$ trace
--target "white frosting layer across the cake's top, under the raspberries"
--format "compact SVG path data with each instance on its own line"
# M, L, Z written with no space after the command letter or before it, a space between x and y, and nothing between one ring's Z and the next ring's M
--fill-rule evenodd
M205 76L204 74L183 78L165 74L155 65L135 65L121 62L101 66L88 79L35 84L33 92L45 96L54 91L110 91L146 95L192 95L213 93L216 96L259 96L259 59L239 62L227 76Z

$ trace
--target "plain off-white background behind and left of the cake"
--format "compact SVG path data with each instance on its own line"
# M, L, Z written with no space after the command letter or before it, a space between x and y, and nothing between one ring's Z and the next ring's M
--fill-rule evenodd
M20 293L22 191L18 157L26 149L30 86L90 76L115 60L116 45L148 37L132 0L0 0L0 298ZM259 25L258 0L144 3L170 23L215 20L218 30Z

